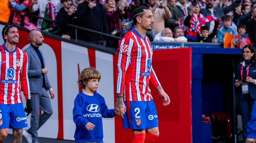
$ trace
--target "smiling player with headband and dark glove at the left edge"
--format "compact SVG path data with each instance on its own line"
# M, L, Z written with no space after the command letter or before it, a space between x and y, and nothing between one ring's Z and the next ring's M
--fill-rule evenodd
M16 25L5 25L2 36L4 44L0 45L0 143L8 135L9 128L12 128L12 142L21 143L22 128L28 126L21 89L26 98L25 111L29 114L32 110L28 82L28 56L26 52L16 47L19 42L19 31Z

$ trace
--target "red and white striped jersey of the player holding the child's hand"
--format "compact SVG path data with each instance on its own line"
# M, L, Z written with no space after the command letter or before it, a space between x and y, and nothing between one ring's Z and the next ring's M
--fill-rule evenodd
M152 68L152 47L149 38L144 39L133 28L119 43L116 93L124 94L125 101L150 101L149 81L160 85Z

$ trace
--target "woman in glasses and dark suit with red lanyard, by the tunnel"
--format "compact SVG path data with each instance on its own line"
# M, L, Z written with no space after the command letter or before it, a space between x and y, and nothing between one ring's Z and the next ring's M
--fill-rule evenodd
M242 49L242 58L237 64L235 86L238 87L238 104L242 115L243 141L246 143L247 123L256 99L256 57L255 47L246 45Z

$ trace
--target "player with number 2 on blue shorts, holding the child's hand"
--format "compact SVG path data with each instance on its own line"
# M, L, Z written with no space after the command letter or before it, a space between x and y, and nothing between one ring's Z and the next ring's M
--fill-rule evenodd
M122 116L120 109L126 107L123 127L133 130L132 143L152 143L159 136L159 129L149 82L159 92L164 106L170 103L170 98L151 66L152 47L145 34L152 30L153 14L148 7L140 6L133 10L132 18L135 27L119 43L115 109Z

